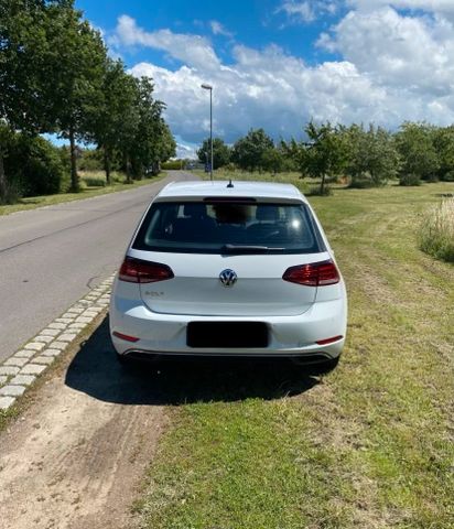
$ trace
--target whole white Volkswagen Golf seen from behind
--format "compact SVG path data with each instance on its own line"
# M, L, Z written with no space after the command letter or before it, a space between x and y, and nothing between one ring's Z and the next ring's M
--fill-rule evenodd
M117 274L110 334L143 355L294 357L335 367L345 284L305 197L288 184L172 183Z

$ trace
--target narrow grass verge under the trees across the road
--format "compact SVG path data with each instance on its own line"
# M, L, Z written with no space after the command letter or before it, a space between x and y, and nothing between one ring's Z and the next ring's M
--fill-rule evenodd
M144 179L144 180L134 180L132 184L125 183L125 175L121 173L112 174L112 184L111 185L95 185L89 186L85 182L86 180L89 183L100 183L102 180L105 182L105 174L101 171L87 171L80 172L80 186L82 190L79 193L58 193L57 195L44 195L44 196L31 196L28 198L21 198L18 204L12 205L0 205L0 216L9 215L15 212L22 212L26 209L35 209L43 206L53 206L55 204L62 204L64 202L82 201L84 198L90 198L93 196L107 195L109 193L116 193L119 191L131 190L133 187L142 186L150 184L152 182L158 182L159 180L165 177L166 173L161 173L158 177Z

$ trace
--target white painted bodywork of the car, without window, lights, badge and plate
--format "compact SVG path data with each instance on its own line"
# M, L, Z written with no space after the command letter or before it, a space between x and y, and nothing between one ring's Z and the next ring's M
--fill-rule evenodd
M259 202L303 203L311 210L323 239L323 251L282 255L144 251L132 248L138 228L127 256L166 264L174 277L139 284L119 280L117 276L110 305L110 332L117 353L337 358L347 325L347 296L342 276L337 283L323 287L282 279L290 267L326 260L335 262L326 235L306 198L287 184L235 182L234 191L226 185L226 182L171 184L154 202L249 196ZM219 280L226 269L237 274L236 283L230 287ZM186 336L191 322L262 322L267 325L269 342L266 347L258 348L191 347ZM114 333L130 336L136 342L125 341ZM333 343L317 344L333 337Z

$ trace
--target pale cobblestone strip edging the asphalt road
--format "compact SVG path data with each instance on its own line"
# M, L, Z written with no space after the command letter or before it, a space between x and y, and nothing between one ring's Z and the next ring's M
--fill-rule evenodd
M0 410L10 408L109 304L114 276L74 303L20 350L0 364Z

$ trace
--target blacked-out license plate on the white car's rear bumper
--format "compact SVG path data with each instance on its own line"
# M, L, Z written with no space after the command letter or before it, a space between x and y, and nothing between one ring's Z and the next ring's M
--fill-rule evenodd
M268 347L268 326L262 322L190 322L188 347Z

